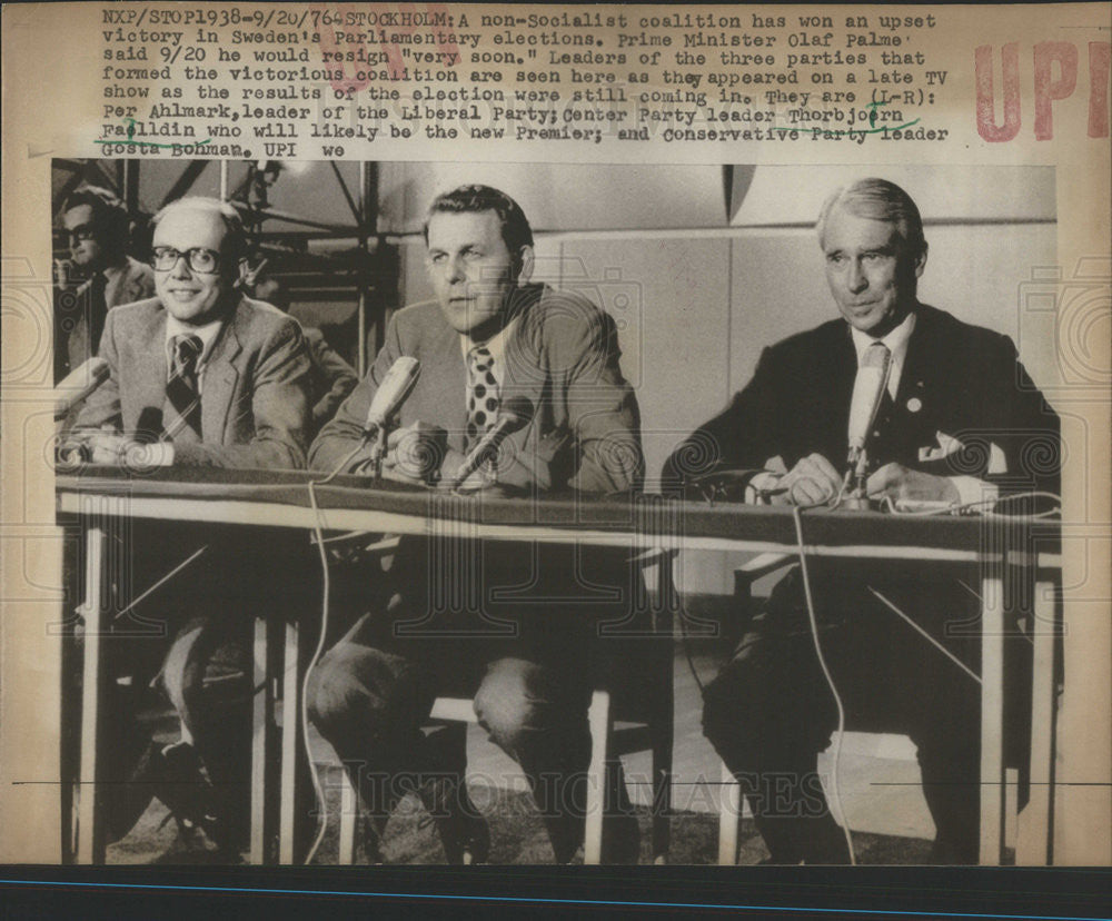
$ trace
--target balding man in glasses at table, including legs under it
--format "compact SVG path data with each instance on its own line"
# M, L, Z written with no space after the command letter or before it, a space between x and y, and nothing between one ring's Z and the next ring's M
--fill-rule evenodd
M308 348L296 320L238 294L245 235L235 208L180 199L153 222L157 296L109 313L100 354L110 377L81 408L71 440L92 463L140 472L304 467ZM190 542L181 531L170 542L157 524L145 528L137 525L132 535L132 572L153 582L189 556ZM115 824L126 831L155 792L222 839L218 843L232 845L245 831L249 801L249 612L279 607L281 600L272 578L249 577L262 562L241 535L205 529L197 543L207 545L206 554L149 603L158 605L155 616L180 627L160 675L182 742L147 752L131 789L146 796L132 796ZM267 552L281 553L272 543ZM155 646L149 637L135 638L121 651L125 667L141 674Z

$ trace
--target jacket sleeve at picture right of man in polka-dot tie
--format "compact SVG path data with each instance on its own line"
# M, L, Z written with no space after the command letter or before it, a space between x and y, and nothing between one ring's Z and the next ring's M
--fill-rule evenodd
M566 368L574 450L568 484L584 493L639 488L644 476L641 418L633 387L622 376L613 318L592 307L586 321L567 324L560 331L553 365Z

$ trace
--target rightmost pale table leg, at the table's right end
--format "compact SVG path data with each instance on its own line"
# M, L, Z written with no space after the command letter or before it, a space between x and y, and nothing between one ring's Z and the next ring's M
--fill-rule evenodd
M1034 661L1031 677L1031 795L1020 815L1015 862L1048 865L1051 853L1051 814L1054 769L1054 584L1036 582L1031 636Z

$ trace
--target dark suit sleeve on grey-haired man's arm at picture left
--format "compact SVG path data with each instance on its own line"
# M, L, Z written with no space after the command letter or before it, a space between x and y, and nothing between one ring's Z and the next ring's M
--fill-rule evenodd
M662 492L679 489L692 477L716 471L762 469L772 457L788 450L776 365L773 350L765 348L745 388L722 413L684 439L665 462Z

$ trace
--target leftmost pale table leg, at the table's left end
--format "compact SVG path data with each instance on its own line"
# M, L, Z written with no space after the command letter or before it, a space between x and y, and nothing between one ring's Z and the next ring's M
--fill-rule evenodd
M81 771L78 804L77 862L103 863L107 829L103 803L101 747L105 710L105 670L102 632L105 627L108 536L102 527L87 525L85 531L86 570L85 663L81 685Z

